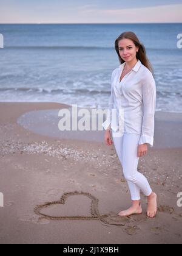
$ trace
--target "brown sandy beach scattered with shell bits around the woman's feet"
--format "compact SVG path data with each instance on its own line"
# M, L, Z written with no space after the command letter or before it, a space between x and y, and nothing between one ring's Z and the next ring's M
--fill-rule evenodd
M58 138L52 129L41 134L47 117L41 126L34 113L50 116L50 111L69 107L50 102L0 103L0 192L4 194L0 243L181 243L182 208L177 205L177 194L182 192L181 114L157 114L154 146L138 164L138 171L158 194L156 218L147 218L146 197L141 194L142 215L117 219L118 212L130 207L130 194L114 146L104 143L104 131L99 132L99 140L87 140L88 133L83 140L73 134ZM35 117L33 126L24 122L30 113ZM74 191L91 195L93 201L86 194L73 194L61 204L62 195ZM103 219L89 219L91 203Z

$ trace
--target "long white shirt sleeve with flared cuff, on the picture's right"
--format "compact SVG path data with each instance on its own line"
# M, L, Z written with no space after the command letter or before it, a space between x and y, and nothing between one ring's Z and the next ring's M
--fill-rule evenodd
M138 144L148 143L153 147L155 127L156 85L152 73L148 73L143 84L143 123Z

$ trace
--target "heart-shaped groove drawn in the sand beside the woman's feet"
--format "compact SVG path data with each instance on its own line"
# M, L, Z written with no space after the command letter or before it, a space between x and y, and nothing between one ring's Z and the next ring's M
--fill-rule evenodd
M79 196L79 195L84 195L89 197L91 199L91 204L90 204L90 215L89 216L50 216L46 215L41 212L44 208L47 207L52 207L53 205L65 205L66 200L69 196ZM90 193L86 192L69 192L69 193L64 193L59 201L54 201L54 202L46 202L45 204L42 205L37 205L34 209L34 212L36 215L41 216L41 218L45 219L52 219L52 220L64 220L64 219L69 219L69 220L99 220L104 222L105 224L110 224L110 225L118 225L118 226L125 226L127 222L129 222L129 217L121 217L116 215L115 213L110 213L107 215L100 215L99 210L98 210L98 199L95 196L92 196Z

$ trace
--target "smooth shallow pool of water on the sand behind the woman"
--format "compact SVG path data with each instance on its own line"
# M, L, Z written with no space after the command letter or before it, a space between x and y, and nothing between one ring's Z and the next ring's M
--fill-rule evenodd
M32 103L33 104L33 103ZM0 102L1 106L1 102ZM64 106L64 107L63 107ZM68 108L71 113L72 106L60 104L60 108ZM78 108L79 111L80 108ZM90 123L92 122L92 108L89 110ZM58 129L59 108L35 110L25 112L18 117L17 122L24 129L47 137L66 140L104 142L104 130L98 130L98 116L96 117L96 131L60 131ZM80 118L78 118L79 121ZM71 122L72 124L72 122ZM155 132L153 148L181 148L182 147L182 113L155 112Z

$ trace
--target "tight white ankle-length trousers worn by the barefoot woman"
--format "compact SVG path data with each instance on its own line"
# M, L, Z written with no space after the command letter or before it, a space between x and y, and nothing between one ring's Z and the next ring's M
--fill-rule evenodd
M123 174L127 180L132 200L141 199L140 190L146 196L149 196L152 193L149 182L143 174L137 171L139 161L138 143L141 135L124 133L122 137L117 137L115 134L115 132L112 132L113 143L123 167Z

